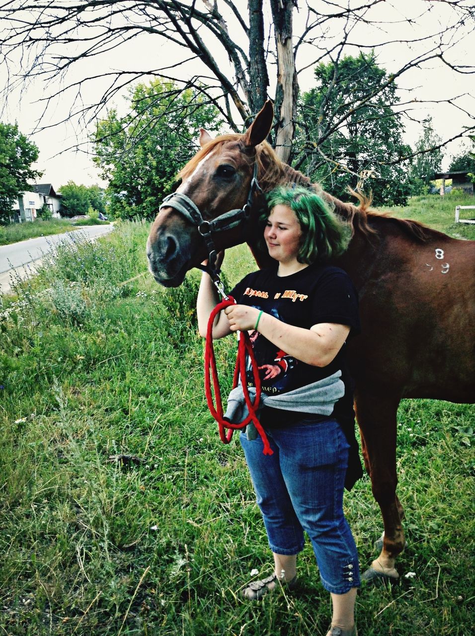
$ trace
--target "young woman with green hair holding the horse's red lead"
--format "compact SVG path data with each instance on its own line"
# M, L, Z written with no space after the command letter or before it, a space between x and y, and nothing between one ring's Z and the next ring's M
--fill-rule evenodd
M277 584L293 586L305 531L333 602L327 636L355 636L359 566L343 488L361 474L345 365L345 343L359 319L352 282L326 264L344 251L347 231L313 191L280 188L268 195L268 207L264 239L275 267L238 283L231 291L238 304L213 326L213 338L251 332L265 393L259 421L273 450L264 455L259 436L240 435L275 565L272 576L242 594L254 600ZM203 336L218 300L203 274L197 300Z

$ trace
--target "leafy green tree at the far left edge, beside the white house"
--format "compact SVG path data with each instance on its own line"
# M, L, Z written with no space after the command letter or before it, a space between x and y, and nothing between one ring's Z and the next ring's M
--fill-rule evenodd
M0 122L0 223L10 221L18 196L28 181L43 174L31 167L38 159L38 146L18 130L18 125Z

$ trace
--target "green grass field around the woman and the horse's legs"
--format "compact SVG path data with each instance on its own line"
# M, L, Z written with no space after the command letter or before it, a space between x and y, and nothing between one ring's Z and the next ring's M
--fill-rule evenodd
M413 203L404 216L425 209ZM418 220L473 237L452 227L453 207ZM0 635L324 635L329 599L309 545L292 595L237 595L251 570L271 572L265 531L239 445L221 444L205 405L198 273L157 287L147 234L118 223L94 245L62 247L1 299ZM244 246L229 251L230 284L252 266ZM216 347L223 392L233 348ZM474 415L401 404L409 543L400 583L359 593L361 636L473 633ZM367 478L345 510L364 569L382 531Z

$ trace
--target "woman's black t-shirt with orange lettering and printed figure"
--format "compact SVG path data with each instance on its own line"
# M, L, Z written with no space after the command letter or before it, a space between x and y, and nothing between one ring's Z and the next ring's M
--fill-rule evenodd
M239 304L256 307L296 327L310 329L320 322L334 322L349 326L350 336L359 332L356 291L347 273L337 267L314 264L284 277L277 276L277 266L259 270L241 280L231 291L231 296ZM340 370L345 396L336 404L333 415L338 419L354 417L352 387L345 363L346 345L330 364L318 367L288 356L258 331L251 331L250 336L266 394L293 391ZM249 386L254 385L250 366L247 382ZM270 426L290 424L300 417L301 413L294 411L268 408L261 413L263 424Z

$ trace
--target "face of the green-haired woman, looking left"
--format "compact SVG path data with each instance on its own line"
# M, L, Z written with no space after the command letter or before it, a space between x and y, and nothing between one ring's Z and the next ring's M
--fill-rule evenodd
M270 256L279 263L296 261L302 231L294 212L287 205L272 208L264 230Z

